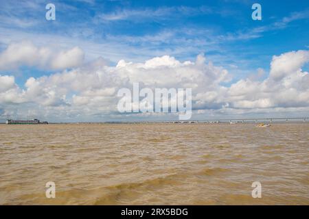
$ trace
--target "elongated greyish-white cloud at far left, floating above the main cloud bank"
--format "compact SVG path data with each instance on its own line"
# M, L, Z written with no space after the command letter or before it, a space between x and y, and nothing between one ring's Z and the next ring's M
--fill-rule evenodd
M51 47L36 47L32 42L14 42L0 53L0 69L14 69L19 66L35 66L41 69L59 70L80 66L84 52L79 47L57 51Z

